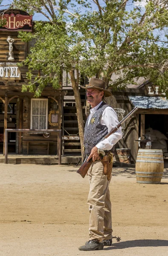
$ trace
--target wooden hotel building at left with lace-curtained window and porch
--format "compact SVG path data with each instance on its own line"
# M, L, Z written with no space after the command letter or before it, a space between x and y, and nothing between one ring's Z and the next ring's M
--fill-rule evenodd
M5 16L6 15L6 16ZM61 129L66 90L46 86L39 99L22 93L27 82L26 66L18 67L29 53L30 44L18 38L20 29L32 31L32 16L20 10L5 12L6 26L0 28L0 153L4 153L5 129ZM35 74L38 74L38 70ZM57 154L56 133L9 133L9 153Z

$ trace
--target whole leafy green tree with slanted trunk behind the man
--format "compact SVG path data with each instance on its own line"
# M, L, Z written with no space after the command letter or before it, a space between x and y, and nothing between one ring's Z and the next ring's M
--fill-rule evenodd
M113 89L143 76L168 96L167 0L14 0L12 4L49 20L36 22L34 34L20 33L25 41L36 39L24 62L29 67L29 84L23 90L40 96L48 83L57 88L64 67L74 90L81 145L81 75L103 78ZM37 76L33 84L35 69L41 69L44 75Z

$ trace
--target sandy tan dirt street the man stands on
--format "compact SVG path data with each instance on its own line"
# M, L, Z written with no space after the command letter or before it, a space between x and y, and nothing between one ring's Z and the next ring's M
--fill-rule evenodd
M167 256L168 169L161 184L113 168L111 247L79 251L88 237L89 183L74 166L0 164L0 256Z

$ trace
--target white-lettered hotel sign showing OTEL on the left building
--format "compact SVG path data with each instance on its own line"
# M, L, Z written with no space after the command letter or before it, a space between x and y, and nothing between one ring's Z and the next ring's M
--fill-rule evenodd
M20 67L14 63L0 63L0 80L20 80Z

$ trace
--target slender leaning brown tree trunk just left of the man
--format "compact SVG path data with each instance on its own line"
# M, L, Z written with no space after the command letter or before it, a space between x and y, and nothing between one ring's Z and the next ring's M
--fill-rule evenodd
M72 82L72 89L75 96L79 137L80 137L80 143L81 143L81 156L82 156L82 162L83 162L84 160L84 120L83 120L83 113L82 113L81 96L78 89L79 84L76 82L73 70L70 70L69 73L70 73L71 82Z

